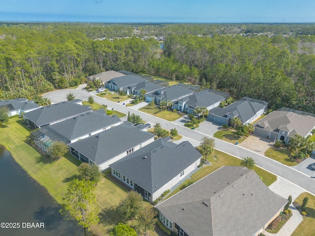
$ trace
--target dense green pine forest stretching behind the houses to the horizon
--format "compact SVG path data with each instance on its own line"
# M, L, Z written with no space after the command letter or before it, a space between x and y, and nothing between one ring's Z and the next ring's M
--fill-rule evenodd
M2 24L0 99L126 70L315 113L314 34L315 24Z

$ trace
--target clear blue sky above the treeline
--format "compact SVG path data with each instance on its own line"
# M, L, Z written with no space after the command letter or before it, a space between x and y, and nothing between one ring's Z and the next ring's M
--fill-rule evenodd
M0 0L0 21L315 23L315 0Z

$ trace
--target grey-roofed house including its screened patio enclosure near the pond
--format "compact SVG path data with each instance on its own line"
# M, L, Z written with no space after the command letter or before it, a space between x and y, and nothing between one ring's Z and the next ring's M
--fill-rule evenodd
M104 130L121 124L117 116L108 116L104 110L88 112L61 122L45 125L31 132L35 144L47 152L55 141L66 145L88 138Z

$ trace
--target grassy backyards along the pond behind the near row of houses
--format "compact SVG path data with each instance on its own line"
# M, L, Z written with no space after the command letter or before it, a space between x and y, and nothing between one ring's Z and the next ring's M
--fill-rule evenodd
M70 154L51 162L46 155L42 155L34 148L29 139L30 129L21 118L9 119L8 127L0 128L0 145L10 151L15 161L40 185L44 186L59 204L63 204L67 182L77 177L77 167L81 162ZM104 177L96 187L100 222L92 227L95 235L109 235L113 227L122 222L116 207L126 196L126 191L123 186L112 180L108 172L104 173ZM157 236L155 232L151 235Z

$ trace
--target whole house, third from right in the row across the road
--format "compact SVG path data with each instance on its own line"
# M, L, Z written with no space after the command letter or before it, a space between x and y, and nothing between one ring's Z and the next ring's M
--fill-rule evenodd
M186 99L187 98L187 99ZM188 113L193 114L194 110L197 107L206 107L208 110L211 110L215 107L218 107L222 101L225 100L225 97L210 92L208 90L203 90L199 92L195 92L188 97L182 98L176 103L181 103L182 104L182 110L187 111Z

